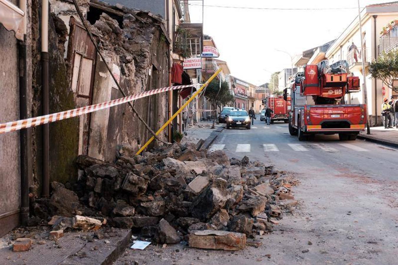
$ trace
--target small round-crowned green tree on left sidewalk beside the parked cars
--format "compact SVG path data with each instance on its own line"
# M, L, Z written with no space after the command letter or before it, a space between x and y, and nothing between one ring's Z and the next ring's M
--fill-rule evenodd
M219 80L213 80L210 82L206 88L205 97L213 106L216 107L214 117L217 117L217 107L221 108L221 105L229 105L234 101L234 96L229 90L228 82L222 81L220 87ZM213 128L215 120L216 119L213 119Z

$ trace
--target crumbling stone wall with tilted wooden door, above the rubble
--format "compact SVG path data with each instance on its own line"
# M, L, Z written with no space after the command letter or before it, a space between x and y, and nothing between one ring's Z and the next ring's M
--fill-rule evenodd
M168 86L169 45L164 21L148 12L116 8L87 0L79 6L113 74L125 94L131 95ZM32 1L32 20L39 18L40 2ZM122 97L100 59L72 2L50 2L49 88L50 113L74 109ZM41 57L39 21L32 23L33 101L32 117L41 115ZM159 94L133 102L135 109L156 131L167 120L167 95ZM91 115L51 123L51 181L74 182L79 154L114 161L125 143L138 149L152 136L127 105ZM33 128L34 184L39 187L42 165L41 127ZM160 138L166 138L161 134ZM37 191L39 192L39 191Z

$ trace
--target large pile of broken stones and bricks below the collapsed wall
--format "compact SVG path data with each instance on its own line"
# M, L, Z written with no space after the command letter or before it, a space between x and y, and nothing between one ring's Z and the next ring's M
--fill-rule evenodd
M53 183L51 213L106 218L157 243L236 250L271 231L282 210L297 204L291 175L246 156L229 160L221 150L199 152L191 143L134 151L121 146L114 164L79 156L82 176L69 187L75 193Z

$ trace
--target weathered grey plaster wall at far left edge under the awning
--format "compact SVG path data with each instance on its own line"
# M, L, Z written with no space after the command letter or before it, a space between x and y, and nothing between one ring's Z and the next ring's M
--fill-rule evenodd
M2 25L0 65L0 123L4 123L19 119L20 103L17 39L13 31L7 31ZM20 174L20 134L0 134L0 214L20 207ZM0 224L10 225L2 220Z

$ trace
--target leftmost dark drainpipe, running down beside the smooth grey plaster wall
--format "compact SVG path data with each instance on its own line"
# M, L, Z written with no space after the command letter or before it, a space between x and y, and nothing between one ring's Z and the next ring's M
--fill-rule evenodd
M27 62L26 62L26 0L20 0L20 8L24 16L24 40L18 41L18 67L20 88L20 119L29 118L28 93L27 93ZM27 226L29 221L29 178L32 175L32 131L31 128L20 131L21 150L21 210L20 220L22 226Z

